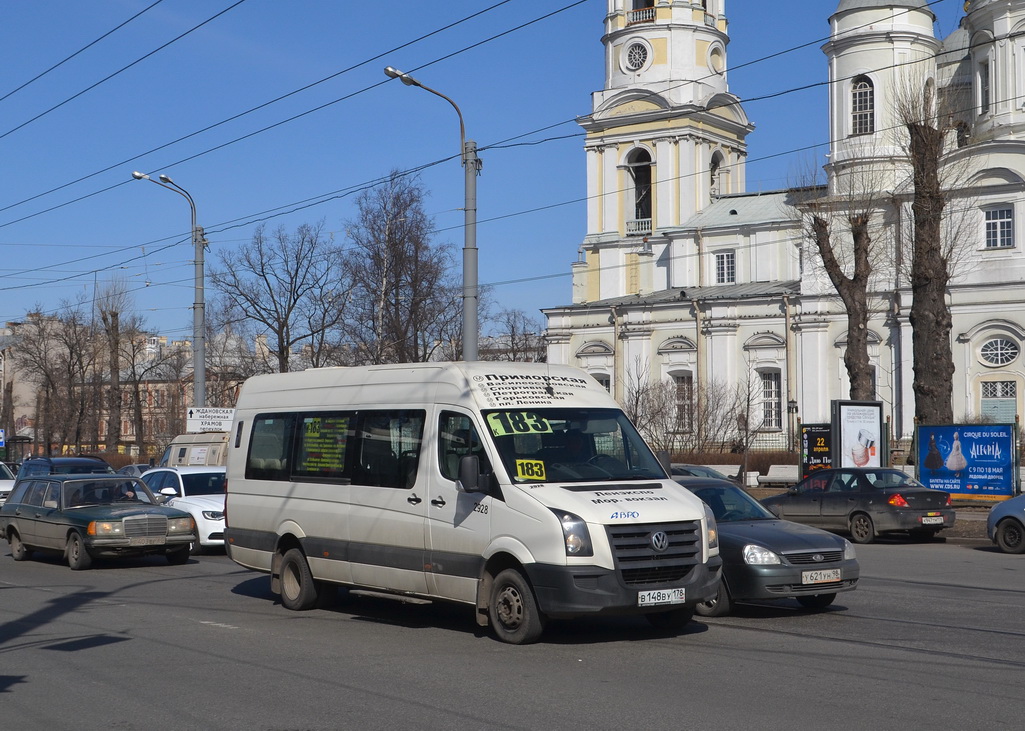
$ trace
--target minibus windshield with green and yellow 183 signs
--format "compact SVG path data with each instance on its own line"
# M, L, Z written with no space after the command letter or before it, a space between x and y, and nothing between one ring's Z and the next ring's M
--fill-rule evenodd
M533 408L484 412L515 482L665 479L665 471L618 409Z

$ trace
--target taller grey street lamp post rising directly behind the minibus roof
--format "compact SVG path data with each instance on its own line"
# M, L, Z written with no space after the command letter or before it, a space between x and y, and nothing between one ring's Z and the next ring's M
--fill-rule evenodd
M393 79L399 79L406 86L419 86L436 96L452 105L459 116L459 152L462 157L464 176L463 196L463 244L462 244L462 359L477 360L477 310L480 292L477 284L477 173L481 169L481 160L477 157L477 143L466 139L466 128L462 121L462 112L455 101L440 91L424 86L409 74L404 74L394 67L384 69L384 74Z

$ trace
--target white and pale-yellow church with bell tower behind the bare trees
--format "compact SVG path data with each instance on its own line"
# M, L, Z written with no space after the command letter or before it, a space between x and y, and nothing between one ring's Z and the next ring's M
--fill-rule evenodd
M726 0L608 0L605 88L579 120L587 233L572 303L543 311L549 362L583 368L621 403L638 384L674 384L688 413L715 383L749 384L757 439L791 445L798 419L828 421L830 402L850 398L847 316L802 201L843 200L871 170L885 201L873 238L889 249L869 287L869 357L892 438L910 438L911 181L894 130L895 97L914 78L948 104L945 165L963 171L947 204L959 252L947 296L954 418L1022 413L1025 0L972 0L943 39L927 0L831 0L824 10L834 3L822 46L827 181L747 193L754 124L727 85Z

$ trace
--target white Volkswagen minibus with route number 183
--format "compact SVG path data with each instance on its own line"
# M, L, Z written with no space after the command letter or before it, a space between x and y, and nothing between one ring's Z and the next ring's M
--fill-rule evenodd
M423 363L248 379L228 455L225 545L289 609L334 585L474 605L500 640L548 617L715 596L711 513L605 389L568 366Z

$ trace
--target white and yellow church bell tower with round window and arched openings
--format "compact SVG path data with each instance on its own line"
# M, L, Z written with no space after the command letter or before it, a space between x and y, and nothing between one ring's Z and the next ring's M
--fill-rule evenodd
M605 88L578 120L587 236L575 302L666 288L650 262L672 229L744 191L753 126L727 85L725 2L608 0Z

